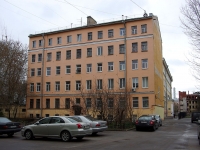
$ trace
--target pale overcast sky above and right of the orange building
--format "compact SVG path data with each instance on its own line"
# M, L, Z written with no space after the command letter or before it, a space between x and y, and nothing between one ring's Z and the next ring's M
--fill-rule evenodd
M0 38L7 34L28 45L29 34L81 26L87 16L102 23L120 20L122 15L142 17L145 10L158 17L163 57L178 98L178 91L199 91L187 60L192 46L180 22L184 5L185 0L0 0Z

